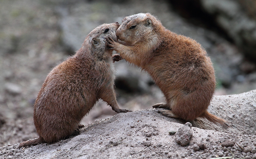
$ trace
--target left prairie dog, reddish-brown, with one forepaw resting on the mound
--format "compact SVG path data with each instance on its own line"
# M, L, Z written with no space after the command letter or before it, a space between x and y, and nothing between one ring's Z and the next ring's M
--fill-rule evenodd
M52 143L73 134L81 119L102 99L117 113L120 109L114 92L112 50L109 36L117 39L119 23L102 24L90 32L82 47L47 75L34 104L34 123L38 139L19 147ZM114 59L116 60L116 59Z

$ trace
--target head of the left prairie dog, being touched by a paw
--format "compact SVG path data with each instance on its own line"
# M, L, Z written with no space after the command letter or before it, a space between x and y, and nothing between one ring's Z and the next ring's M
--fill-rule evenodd
M102 24L94 28L85 38L82 50L89 49L92 54L99 58L108 58L112 55L112 50L107 48L107 36L117 40L115 34L120 26L118 22L111 24ZM89 47L89 48L88 48Z

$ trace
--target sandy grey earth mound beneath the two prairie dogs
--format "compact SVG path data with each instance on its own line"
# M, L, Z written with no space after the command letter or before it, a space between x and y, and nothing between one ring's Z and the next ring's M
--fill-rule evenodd
M169 134L185 122L157 112L143 109L119 113L88 124L79 135L53 144L3 146L0 158L256 158L256 90L214 96L209 112L224 118L231 127L198 118L192 122L193 136L187 146L180 146L175 135ZM234 143L223 147L226 140Z

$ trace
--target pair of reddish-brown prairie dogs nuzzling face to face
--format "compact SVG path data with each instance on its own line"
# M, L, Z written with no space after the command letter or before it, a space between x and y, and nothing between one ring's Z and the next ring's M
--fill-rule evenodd
M119 54L112 55L113 50ZM19 147L68 138L99 99L117 113L130 112L119 108L113 87L113 63L121 59L146 71L161 89L166 103L153 105L165 108L159 113L185 121L203 117L228 126L207 111L216 81L206 51L195 40L166 29L150 13L139 13L125 17L121 25L94 28L76 54L52 69L34 104L39 138Z

